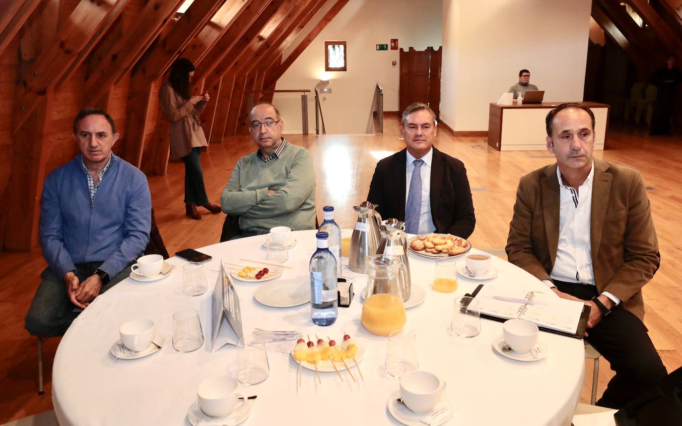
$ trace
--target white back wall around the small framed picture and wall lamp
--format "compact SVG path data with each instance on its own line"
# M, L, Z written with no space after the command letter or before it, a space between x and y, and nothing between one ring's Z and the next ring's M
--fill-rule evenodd
M307 34L326 10L301 33ZM276 89L312 90L319 80L329 78L332 93L321 95L326 97L321 104L327 133L371 132L374 86L379 82L383 88L384 110L397 111L400 77L399 50L376 50L376 44L390 44L391 38L397 38L404 49L437 49L442 41L442 14L443 0L351 0L294 61ZM325 72L325 41L343 40L348 71ZM297 44L295 40L292 46ZM392 66L391 61L397 64ZM300 95L276 93L273 103L285 121L284 133L301 133ZM314 134L314 92L309 95L308 112L309 131Z

